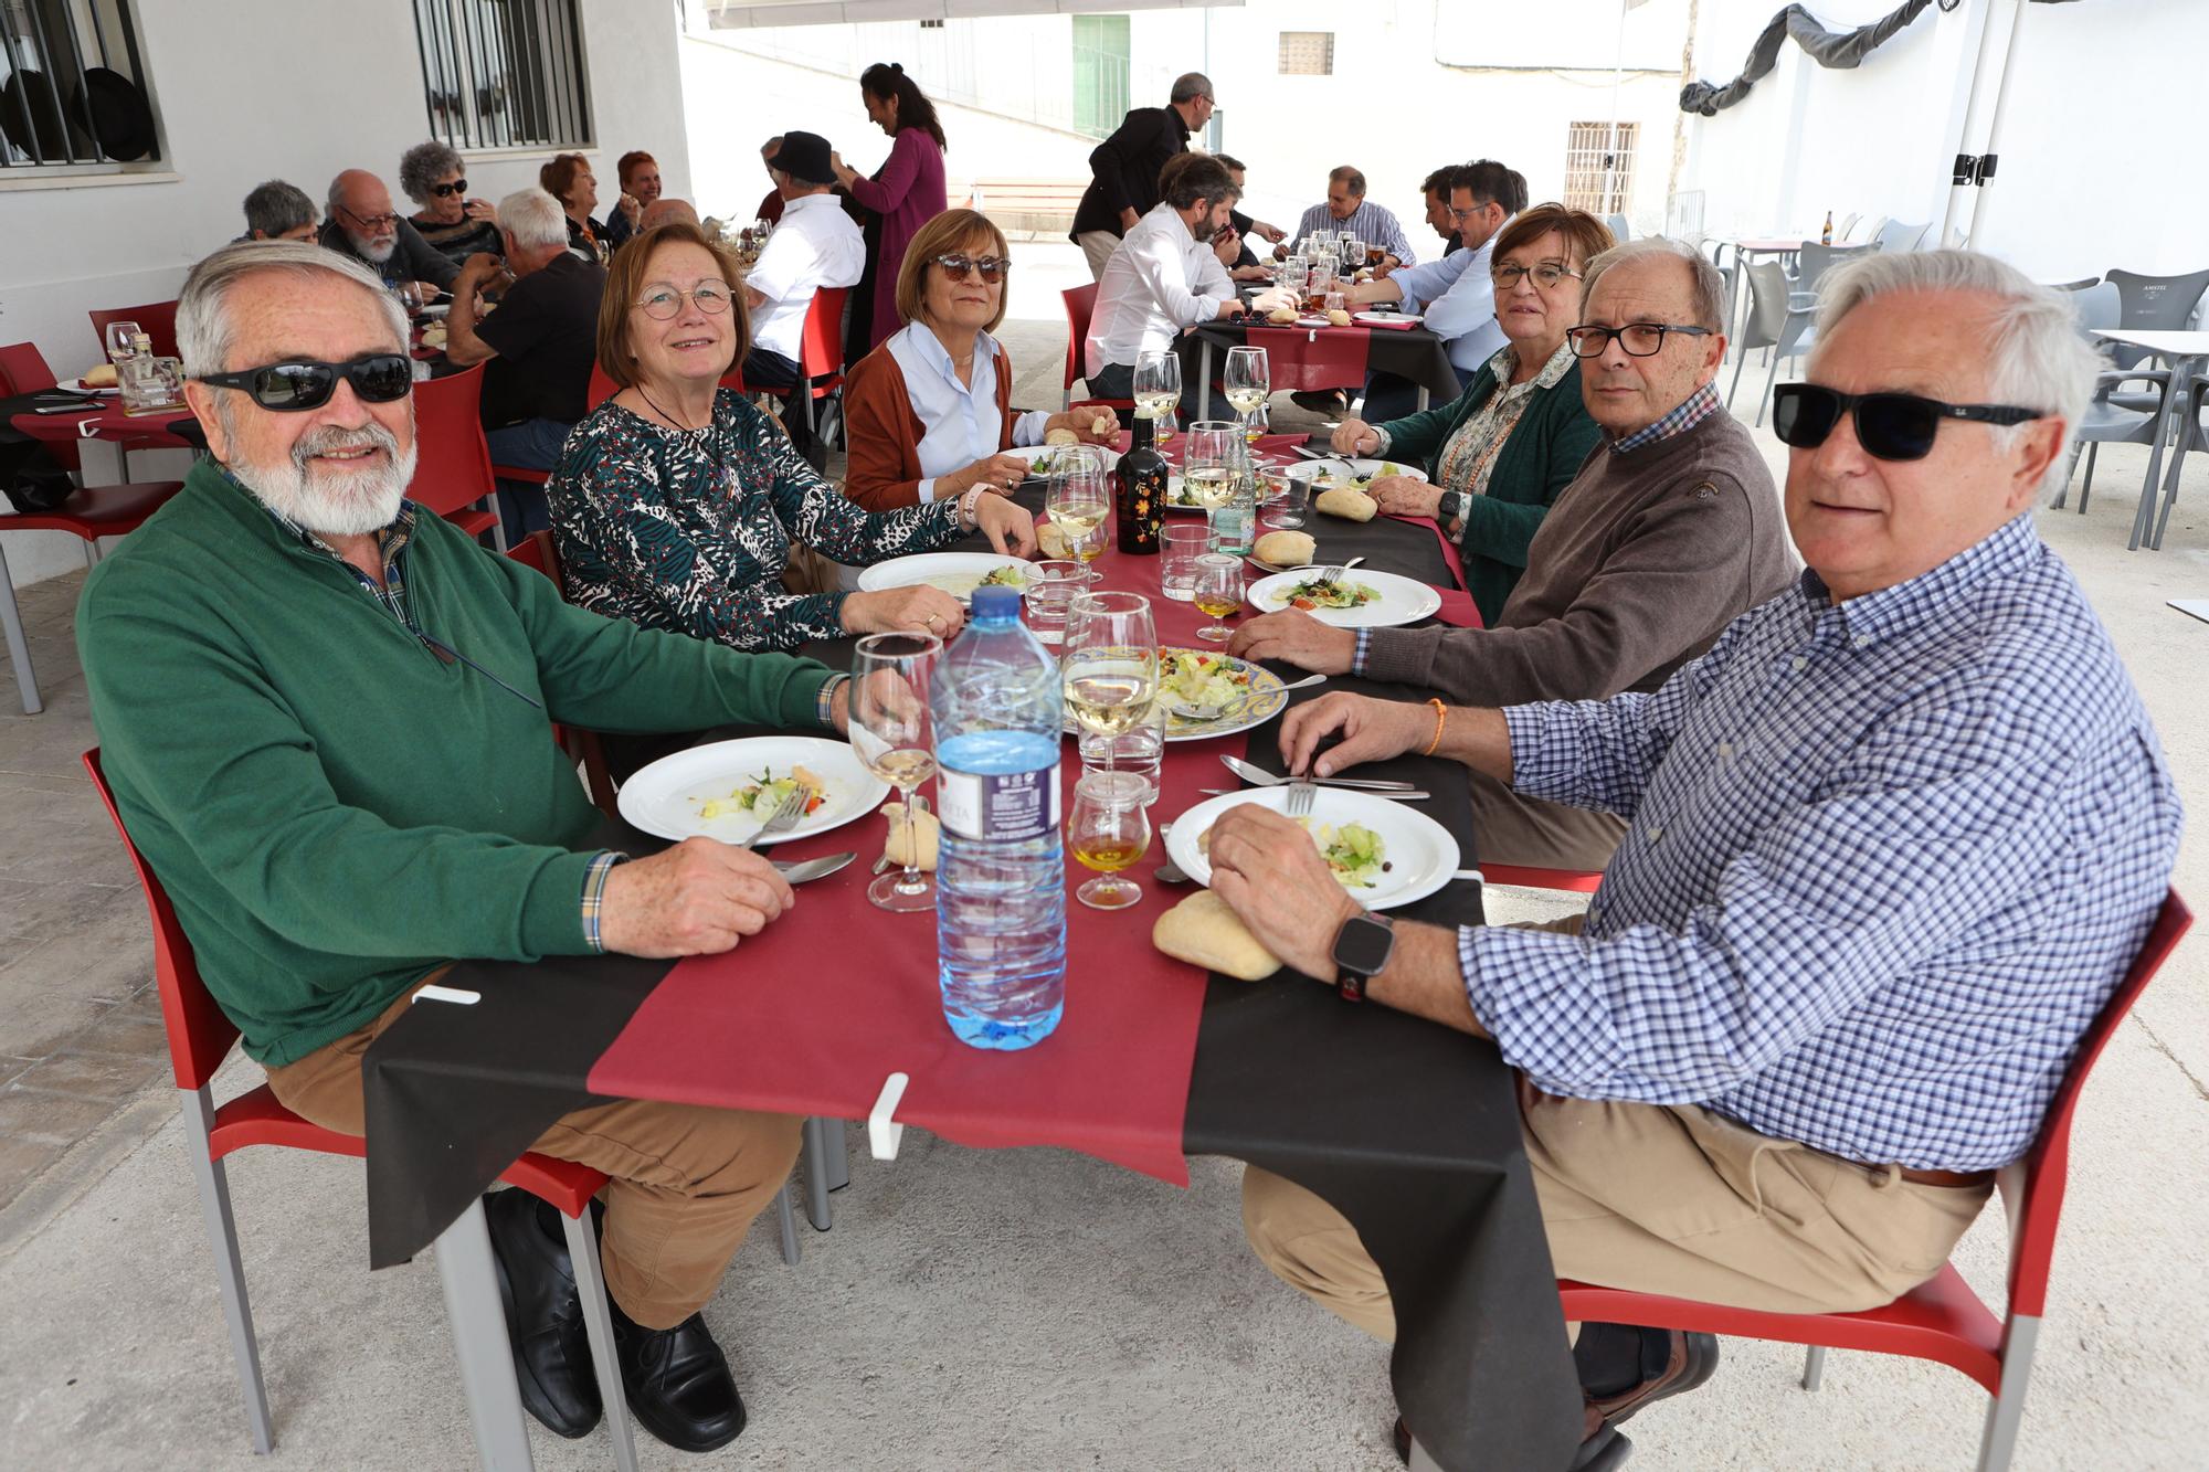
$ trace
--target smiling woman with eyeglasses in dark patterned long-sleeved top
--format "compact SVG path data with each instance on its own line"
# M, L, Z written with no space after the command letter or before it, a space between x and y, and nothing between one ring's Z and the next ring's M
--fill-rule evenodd
M864 566L979 528L1025 557L1036 546L1029 515L979 486L879 513L844 500L769 416L718 387L747 338L736 263L696 225L660 225L614 256L599 365L621 391L574 427L550 482L568 597L738 650L908 628L956 634L963 612L939 588L784 592L791 548Z

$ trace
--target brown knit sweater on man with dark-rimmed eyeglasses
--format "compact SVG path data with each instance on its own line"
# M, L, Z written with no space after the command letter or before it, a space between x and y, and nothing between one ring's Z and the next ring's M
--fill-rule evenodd
M1493 628L1378 628L1365 674L1460 705L1655 690L1794 579L1780 497L1730 413L1624 455L1597 444Z

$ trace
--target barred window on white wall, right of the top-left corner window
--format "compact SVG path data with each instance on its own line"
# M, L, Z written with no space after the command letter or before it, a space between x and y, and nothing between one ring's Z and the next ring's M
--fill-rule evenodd
M453 148L590 148L577 0L413 0L429 130Z

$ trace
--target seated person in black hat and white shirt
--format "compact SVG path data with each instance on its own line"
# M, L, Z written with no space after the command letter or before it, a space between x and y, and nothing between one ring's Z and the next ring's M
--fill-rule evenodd
M789 413L789 396L800 380L806 312L820 287L859 281L866 239L831 192L835 170L828 166L828 139L817 133L784 133L767 172L782 197L782 223L767 236L760 259L744 276L744 305L751 309L744 387L784 398L782 424L791 431L791 442L815 458L804 418Z

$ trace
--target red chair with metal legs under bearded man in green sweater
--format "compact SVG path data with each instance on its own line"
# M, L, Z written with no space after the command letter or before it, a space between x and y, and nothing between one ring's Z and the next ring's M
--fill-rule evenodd
M84 754L84 769L93 774L93 787L99 789L99 800L106 802L108 818L121 833L130 866L146 889L146 908L152 911L152 970L161 988L161 1023L168 1028L170 1068L177 1074L177 1090L183 1094L183 1129L190 1136L192 1176L199 1180L199 1205L208 1220L208 1242L214 1249L223 1319L230 1324L230 1353L245 1386L245 1419L252 1426L254 1450L265 1454L274 1450L276 1432L269 1423L267 1384L261 1379L261 1346L254 1339L254 1313L245 1297L245 1269L239 1260L239 1229L230 1213L230 1176L223 1169L223 1158L247 1145L281 1145L353 1158L367 1156L369 1147L356 1134L323 1129L292 1114L265 1083L216 1107L210 1085L223 1059L230 1056L239 1028L208 992L192 955L192 942L177 922L168 891L139 858L121 813L115 811L115 793L108 791L106 776L99 771L99 747ZM599 1240L588 1218L590 1198L605 1187L605 1174L588 1165L526 1154L506 1167L499 1180L552 1202L563 1218L568 1258L574 1262L577 1286L583 1295L590 1355L599 1370L607 1430L614 1437L614 1457L623 1468L634 1468L636 1448L630 1434L627 1399L621 1390L621 1361L614 1357L614 1322L605 1311Z

